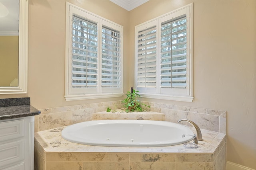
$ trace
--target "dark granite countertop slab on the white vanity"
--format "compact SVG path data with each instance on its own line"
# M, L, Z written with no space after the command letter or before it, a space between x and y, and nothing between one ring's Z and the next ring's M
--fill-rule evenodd
M0 107L0 120L39 115L41 112L31 105Z

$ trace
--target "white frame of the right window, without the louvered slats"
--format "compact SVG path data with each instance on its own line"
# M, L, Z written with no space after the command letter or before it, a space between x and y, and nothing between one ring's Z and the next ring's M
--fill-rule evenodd
M174 89L172 94L166 94L166 91L161 92L160 88L160 55L161 55L161 25L162 23L174 18L186 15L187 18L187 63L186 63L186 89ZM138 75L138 32L153 27L156 25L156 88L137 88ZM135 75L134 86L140 91L140 96L144 98L155 98L163 100L175 100L192 102L193 97L193 3L178 8L172 12L168 12L162 16L154 18L135 26ZM163 89L163 88L162 88Z

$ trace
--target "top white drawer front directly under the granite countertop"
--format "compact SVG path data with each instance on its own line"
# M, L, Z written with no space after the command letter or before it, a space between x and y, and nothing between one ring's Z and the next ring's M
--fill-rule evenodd
M0 141L24 136L24 119L4 121L0 123Z

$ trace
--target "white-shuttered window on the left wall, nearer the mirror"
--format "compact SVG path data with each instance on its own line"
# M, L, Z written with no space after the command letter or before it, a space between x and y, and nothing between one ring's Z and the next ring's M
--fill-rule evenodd
M123 27L67 2L66 100L122 96Z

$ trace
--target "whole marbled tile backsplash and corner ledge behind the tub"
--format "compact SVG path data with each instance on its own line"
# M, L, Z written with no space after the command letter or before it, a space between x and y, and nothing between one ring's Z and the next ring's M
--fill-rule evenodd
M39 109L41 114L35 116L35 132L93 119L166 120L174 123L177 123L179 119L190 119L202 129L226 133L226 111L151 102L142 103L151 106L150 111L155 113L106 112L108 107L111 109L122 108L123 104L121 101ZM182 124L190 126L186 122L182 122Z

